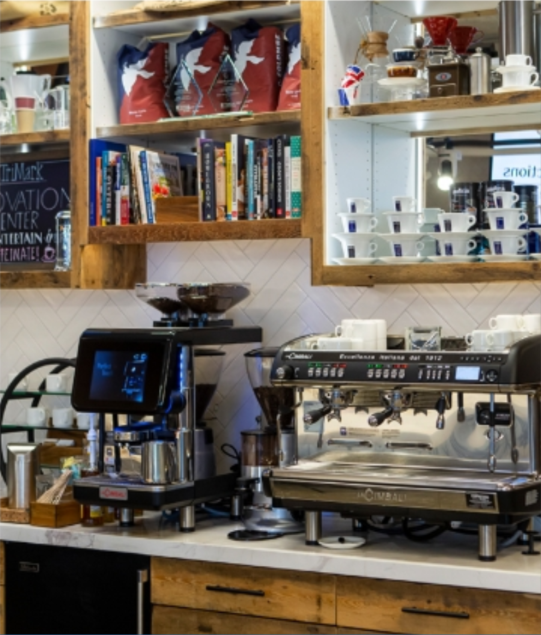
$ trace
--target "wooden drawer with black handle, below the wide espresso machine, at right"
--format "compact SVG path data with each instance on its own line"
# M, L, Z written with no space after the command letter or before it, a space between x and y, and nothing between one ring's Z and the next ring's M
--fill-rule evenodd
M541 626L541 597L339 577L336 623L391 633L536 635Z

